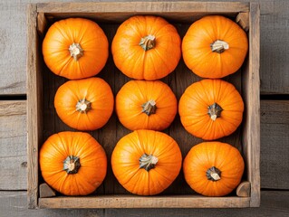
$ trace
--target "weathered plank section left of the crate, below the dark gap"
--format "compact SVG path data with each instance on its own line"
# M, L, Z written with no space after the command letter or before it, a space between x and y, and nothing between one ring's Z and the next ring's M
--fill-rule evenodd
M0 101L0 190L27 188L26 101Z

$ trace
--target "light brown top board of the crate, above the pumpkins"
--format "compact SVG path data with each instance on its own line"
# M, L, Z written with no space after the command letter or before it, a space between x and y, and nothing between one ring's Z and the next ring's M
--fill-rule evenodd
M249 11L248 3L229 2L102 2L102 3L49 3L38 4L37 11L43 13L139 13L139 12L212 12L237 13Z

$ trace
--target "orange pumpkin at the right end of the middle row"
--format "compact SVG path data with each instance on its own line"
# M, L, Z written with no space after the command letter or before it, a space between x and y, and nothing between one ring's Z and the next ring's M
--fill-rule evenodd
M213 140L232 134L243 118L244 102L225 80L201 80L191 84L178 103L180 120L195 137Z

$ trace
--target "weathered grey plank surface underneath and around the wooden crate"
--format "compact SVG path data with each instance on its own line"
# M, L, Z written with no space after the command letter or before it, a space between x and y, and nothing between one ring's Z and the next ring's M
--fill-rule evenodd
M246 2L245 0L240 0ZM0 1L0 216L289 216L289 1L261 8L261 207L255 209L28 210L26 5ZM64 1L62 2L79 2ZM97 1L95 1L97 2Z

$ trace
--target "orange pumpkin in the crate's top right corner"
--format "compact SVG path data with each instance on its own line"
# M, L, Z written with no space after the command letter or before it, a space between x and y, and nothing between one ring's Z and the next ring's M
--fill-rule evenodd
M221 15L201 18L188 28L182 54L188 68L202 78L218 79L236 72L248 50L246 33Z

